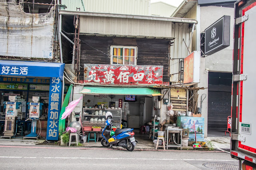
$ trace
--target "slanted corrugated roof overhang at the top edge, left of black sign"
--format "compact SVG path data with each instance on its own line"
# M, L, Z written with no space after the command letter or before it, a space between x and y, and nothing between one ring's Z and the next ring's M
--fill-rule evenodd
M182 18L197 3L196 0L185 0L178 6L171 17Z

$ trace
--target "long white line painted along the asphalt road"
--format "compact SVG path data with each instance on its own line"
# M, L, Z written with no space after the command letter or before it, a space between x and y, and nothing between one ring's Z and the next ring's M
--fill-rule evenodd
M168 159L168 158L83 158L83 157L15 157L0 156L0 158L45 158L45 159L109 159L109 160L184 160L184 161L237 161L237 160L218 160L218 159Z

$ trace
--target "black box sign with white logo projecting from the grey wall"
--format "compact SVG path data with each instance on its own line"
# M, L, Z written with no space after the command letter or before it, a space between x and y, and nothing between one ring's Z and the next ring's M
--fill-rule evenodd
M210 55L230 45L230 16L222 16L205 30L204 54Z

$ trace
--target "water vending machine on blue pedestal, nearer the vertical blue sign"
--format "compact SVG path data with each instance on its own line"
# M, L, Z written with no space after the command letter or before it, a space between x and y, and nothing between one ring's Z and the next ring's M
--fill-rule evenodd
M42 111L43 103L39 102L39 96L33 96L31 103L27 103L29 109L29 119L31 121L31 133L26 135L24 138L38 138L38 134L36 133L36 121L40 118L40 114Z

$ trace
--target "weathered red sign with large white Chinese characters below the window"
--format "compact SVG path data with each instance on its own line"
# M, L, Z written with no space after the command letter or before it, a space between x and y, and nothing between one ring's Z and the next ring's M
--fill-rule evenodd
M105 85L162 85L162 65L84 64L84 83Z

